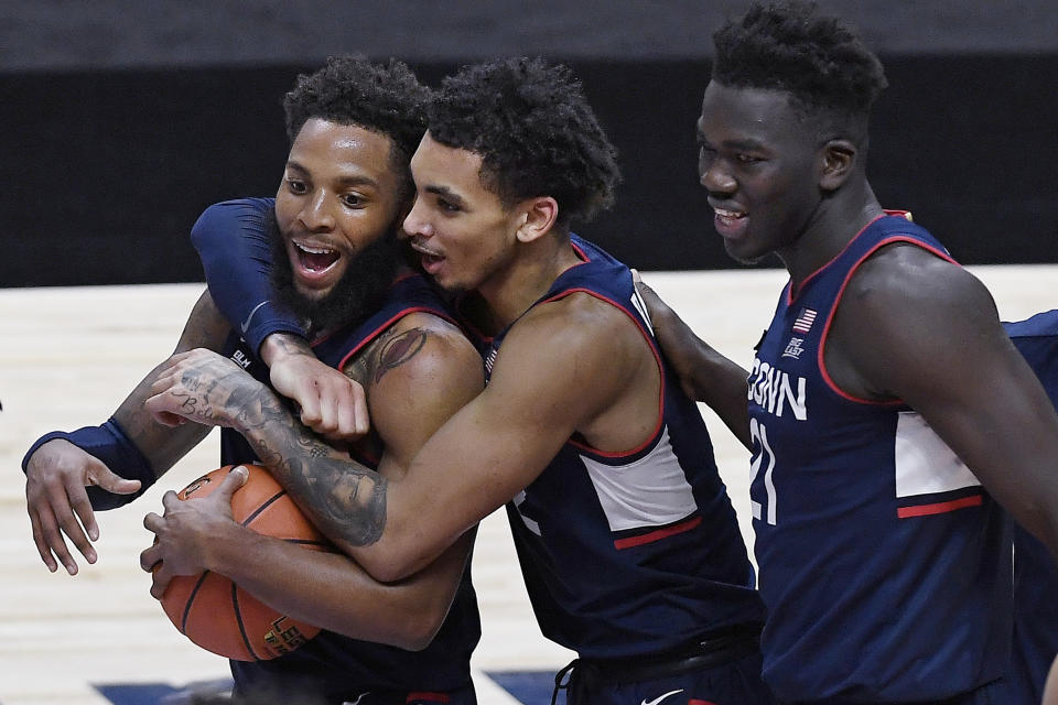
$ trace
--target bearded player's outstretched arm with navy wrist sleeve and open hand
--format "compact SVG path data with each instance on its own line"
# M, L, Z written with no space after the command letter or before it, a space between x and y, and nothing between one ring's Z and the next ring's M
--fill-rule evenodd
M227 332L208 293L204 293L187 319L176 351L220 349ZM56 571L61 562L67 573L77 573L77 562L64 535L88 563L95 563L91 542L98 540L99 527L94 509L131 501L209 432L208 426L197 424L171 429L142 413L159 368L143 378L106 424L61 434L26 454L26 510L36 550L50 571Z

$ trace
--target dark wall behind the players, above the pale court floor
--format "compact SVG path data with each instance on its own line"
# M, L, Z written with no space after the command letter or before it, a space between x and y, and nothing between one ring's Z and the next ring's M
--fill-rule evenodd
M646 270L732 267L697 184L694 120L731 0L0 1L0 286L201 281L210 203L270 195L282 95L331 54L569 63L620 152L579 229ZM868 172L965 263L1058 261L1058 6L823 1L890 87Z

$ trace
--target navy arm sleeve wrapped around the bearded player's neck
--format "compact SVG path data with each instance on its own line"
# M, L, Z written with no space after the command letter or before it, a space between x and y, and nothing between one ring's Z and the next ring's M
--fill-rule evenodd
M220 313L257 351L272 333L305 337L296 317L273 301L269 243L273 198L240 198L206 208L191 230Z

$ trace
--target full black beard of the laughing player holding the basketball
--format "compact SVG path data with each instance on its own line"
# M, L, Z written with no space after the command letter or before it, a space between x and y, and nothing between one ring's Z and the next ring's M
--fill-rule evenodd
M270 218L272 289L280 304L294 313L310 338L322 330L357 325L378 311L402 261L400 242L391 229L347 258L345 272L323 296L306 296L294 284L294 270L276 218Z

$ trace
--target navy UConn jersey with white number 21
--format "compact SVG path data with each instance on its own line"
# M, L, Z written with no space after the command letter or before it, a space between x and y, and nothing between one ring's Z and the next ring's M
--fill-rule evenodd
M895 242L951 260L908 218L879 217L787 284L749 375L764 676L780 701L933 702L1007 666L1003 511L921 416L840 391L823 364L845 284Z

